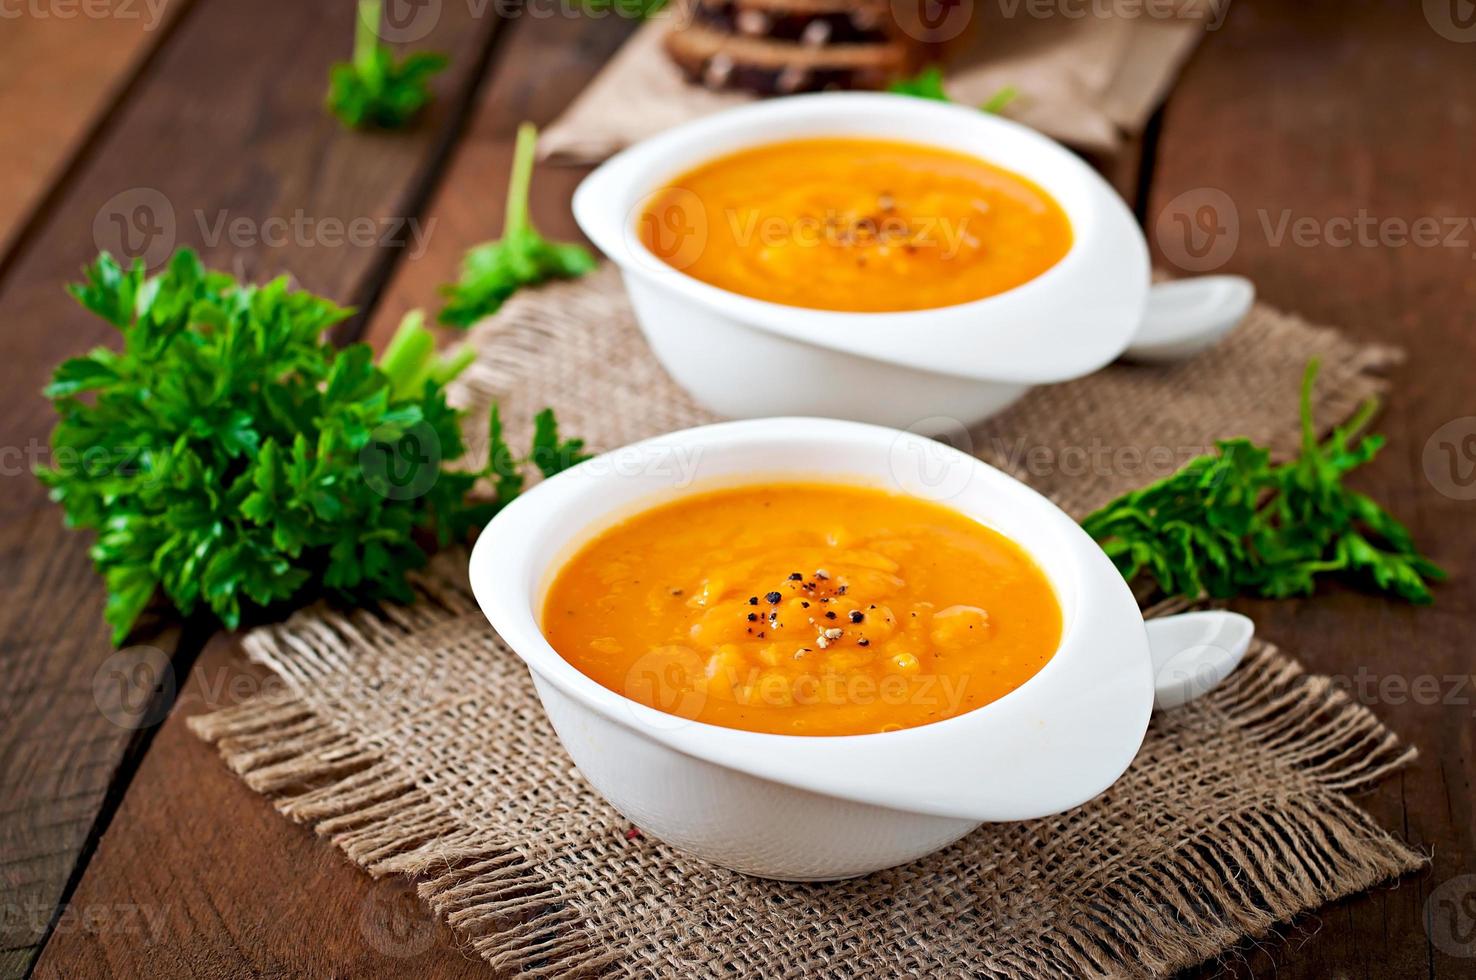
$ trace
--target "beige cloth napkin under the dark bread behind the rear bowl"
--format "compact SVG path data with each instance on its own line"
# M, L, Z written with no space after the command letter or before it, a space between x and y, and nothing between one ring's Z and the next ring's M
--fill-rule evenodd
M982 103L1020 94L1004 115L1085 151L1142 130L1227 0L959 0L977 38L948 66L948 92ZM753 96L688 84L661 50L676 13L657 15L543 133L546 159L595 162L672 125Z

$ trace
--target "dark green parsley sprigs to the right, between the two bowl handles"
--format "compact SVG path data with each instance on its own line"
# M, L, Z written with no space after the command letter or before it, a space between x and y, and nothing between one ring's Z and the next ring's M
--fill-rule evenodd
M1373 415L1364 406L1324 443L1312 427L1317 362L1302 381L1302 453L1274 465L1244 438L1128 493L1082 525L1129 580L1145 574L1175 596L1308 595L1318 576L1371 582L1410 602L1430 602L1445 573L1421 556L1399 521L1343 477L1384 440L1353 441Z

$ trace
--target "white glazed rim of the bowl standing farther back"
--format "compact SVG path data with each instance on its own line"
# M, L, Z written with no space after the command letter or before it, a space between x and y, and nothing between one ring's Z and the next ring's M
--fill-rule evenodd
M803 127L806 136L862 133L986 159L995 159L987 145L1008 146L1011 155L1035 165L999 162L1055 196L1072 221L1072 249L1035 279L973 303L843 313L768 303L708 285L655 257L633 233L633 214L652 190L704 159L785 139L775 131L794 127ZM1100 174L1026 125L911 96L788 96L676 125L590 173L574 192L573 210L580 229L627 276L759 329L948 375L1045 384L1091 373L1128 347L1147 303L1147 242Z

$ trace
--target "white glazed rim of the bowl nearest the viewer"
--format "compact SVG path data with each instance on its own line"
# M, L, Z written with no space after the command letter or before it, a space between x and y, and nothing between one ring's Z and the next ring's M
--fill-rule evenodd
M742 732L658 711L580 673L539 627L537 604L554 562L537 552L548 549L549 539L587 540L624 515L608 502L624 477L601 475L592 463L542 483L487 525L471 556L472 590L503 642L545 682L688 756L818 794L934 816L1014 821L1077 806L1111 785L1137 754L1153 705L1153 670L1142 617L1122 576L1049 500L931 440L834 419L723 422L646 440L627 452L682 446L720 455L779 444L813 444L816 452L846 446L874 449L880 471L894 446L912 441L953 453L958 459L951 462L970 466L970 480L1007 500L1004 506L1018 521L1042 522L1060 543L1066 570L1051 576L1067 611L1055 657L1004 698L945 722L877 735ZM812 472L794 475L813 478ZM869 475L875 474L856 474ZM579 509L601 517L574 518Z

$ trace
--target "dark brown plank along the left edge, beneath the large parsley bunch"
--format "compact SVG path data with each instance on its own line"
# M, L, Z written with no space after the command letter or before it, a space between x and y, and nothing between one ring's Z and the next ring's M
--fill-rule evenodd
M53 421L38 394L47 372L112 335L62 285L99 248L156 261L174 245L195 245L249 277L292 272L342 301L372 295L394 254L416 248L413 235L404 249L390 239L424 204L497 21L444 6L421 41L453 58L437 81L440 97L410 131L385 134L345 133L322 109L328 63L347 56L353 16L347 3L199 0L0 275L0 553L9 573L0 579L0 974L32 961L106 825L109 787L117 796L127 785L151 731L127 716L111 720L120 717L108 705L117 661L89 540L62 530L28 474L44 460ZM187 666L201 638L145 633L139 642Z

